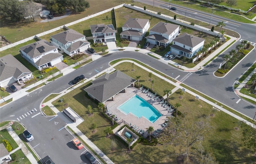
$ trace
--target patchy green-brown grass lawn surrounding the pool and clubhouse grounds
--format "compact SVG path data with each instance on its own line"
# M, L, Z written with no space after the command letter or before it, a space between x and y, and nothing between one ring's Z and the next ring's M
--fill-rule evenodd
M124 73L130 76L137 76L137 73L144 75L141 80L145 80L145 85L150 85L148 83L148 73L134 66L134 71L132 69L132 63L122 63L116 68L119 68ZM161 87L157 88L161 79L158 77L152 77L156 81L153 88L157 93L162 92L164 88L168 88L170 84L161 83ZM57 107L60 111L64 108L64 105L70 106L76 113L78 113L84 122L78 125L78 128L82 133L84 133L104 154L106 154L114 163L124 164L131 163L131 161L136 161L136 163L176 163L177 153L180 152L180 146L174 144L161 144L164 141L164 136L160 136L158 139L158 146L145 146L143 144L137 144L132 151L128 151L128 148L124 146L119 140L117 140L114 135L107 138L104 134L104 129L111 126L112 123L102 113L100 109L97 108L97 104L92 102L86 97L86 92L84 88L90 84L83 84L79 88L76 88L72 92L64 95L64 102L58 102L58 100L53 102L53 105ZM166 86L167 85L167 86ZM161 93L160 93L161 94ZM198 119L207 119L212 126L210 132L204 137L203 145L206 151L213 152L217 161L220 163L233 163L236 161L243 161L243 163L250 163L252 152L243 145L241 139L242 131L234 129L238 126L238 120L234 119L230 115L222 111L212 111L212 106L203 102L196 101L194 96L186 93L180 97L180 90L173 93L170 96L170 103L174 104L176 102L182 104L179 107L179 111L185 114L185 119L191 123L197 121ZM93 108L93 115L89 115L88 105ZM214 117L210 114L214 113ZM96 123L97 128L93 133L91 129L92 123ZM168 129L168 127L167 127ZM116 146L113 146L116 143ZM242 154L242 155L241 155Z

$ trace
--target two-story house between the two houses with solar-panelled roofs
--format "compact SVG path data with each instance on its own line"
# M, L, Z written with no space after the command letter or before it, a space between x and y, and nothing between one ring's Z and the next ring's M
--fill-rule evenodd
M85 35L73 29L52 35L50 41L70 57L82 53L91 47L90 42L86 41Z

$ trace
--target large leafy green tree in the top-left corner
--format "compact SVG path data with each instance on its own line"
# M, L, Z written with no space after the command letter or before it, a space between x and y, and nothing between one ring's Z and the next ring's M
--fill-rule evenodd
M25 3L19 0L1 0L0 1L1 19L18 22L24 19Z

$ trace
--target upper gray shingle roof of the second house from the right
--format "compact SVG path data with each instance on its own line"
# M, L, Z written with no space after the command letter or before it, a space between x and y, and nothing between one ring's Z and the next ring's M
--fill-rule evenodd
M160 21L156 25L154 25L154 27L152 27L149 31L154 31L157 33L166 33L167 35L170 35L178 27L180 26Z

